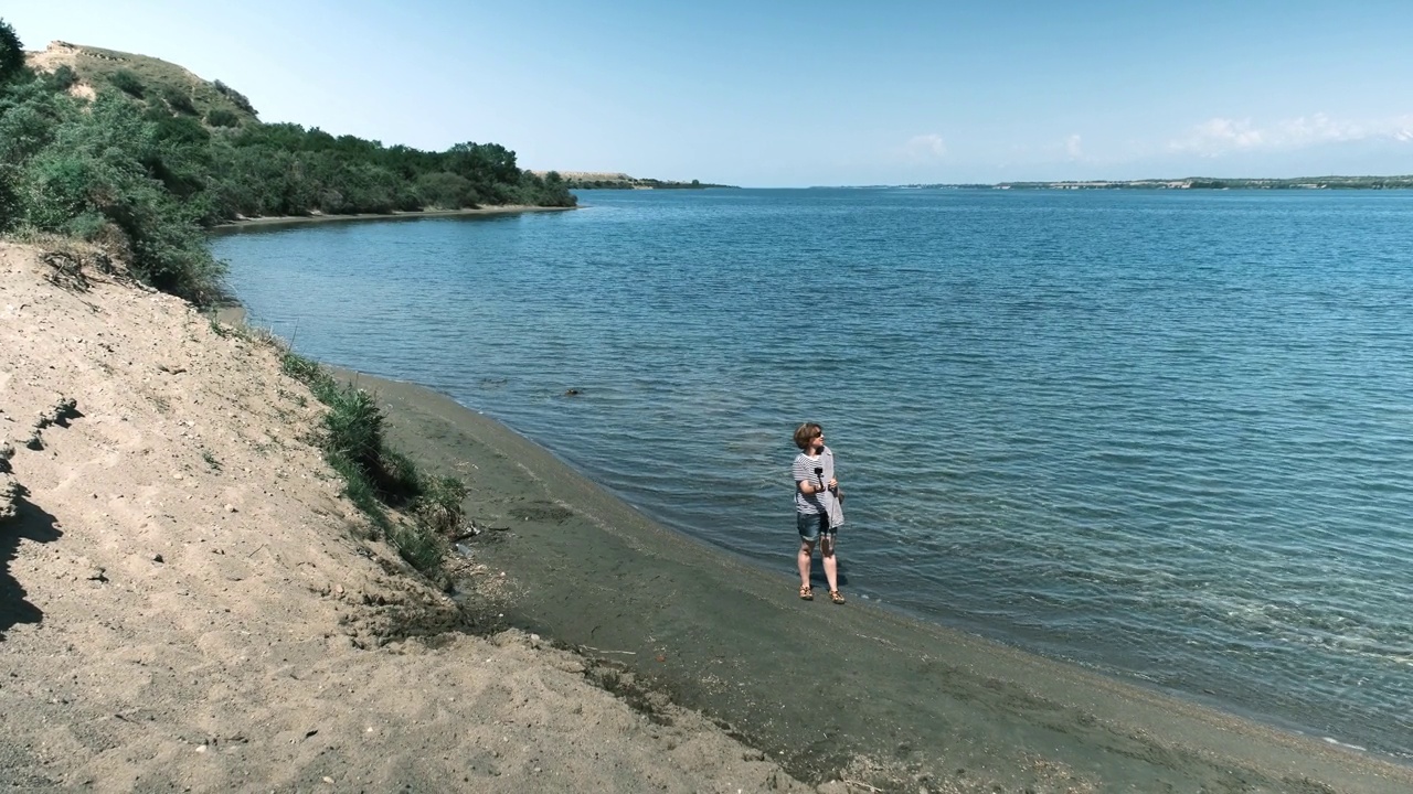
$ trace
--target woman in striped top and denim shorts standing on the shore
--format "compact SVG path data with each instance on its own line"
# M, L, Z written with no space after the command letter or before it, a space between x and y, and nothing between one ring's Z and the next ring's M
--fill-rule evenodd
M834 452L824 445L824 428L817 422L805 422L796 428L796 455L793 466L796 480L796 527L800 530L800 598L814 600L810 589L810 564L814 559L814 544L820 544L820 558L824 562L824 578L829 582L829 600L844 603L838 583L838 561L834 558L834 541L844 524L844 510L839 506L839 480L834 479Z

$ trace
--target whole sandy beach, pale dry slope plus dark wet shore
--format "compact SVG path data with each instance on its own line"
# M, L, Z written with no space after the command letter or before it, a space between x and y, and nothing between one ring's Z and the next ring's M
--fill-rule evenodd
M447 592L277 350L0 243L0 784L99 791L1413 790L1413 769L861 599L801 602L415 384ZM72 403L71 403L72 401ZM845 545L846 552L846 545Z

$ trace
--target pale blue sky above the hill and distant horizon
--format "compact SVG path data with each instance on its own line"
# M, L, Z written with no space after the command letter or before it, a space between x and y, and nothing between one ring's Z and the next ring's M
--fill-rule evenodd
M1413 3L21 0L266 122L749 186L1413 174Z

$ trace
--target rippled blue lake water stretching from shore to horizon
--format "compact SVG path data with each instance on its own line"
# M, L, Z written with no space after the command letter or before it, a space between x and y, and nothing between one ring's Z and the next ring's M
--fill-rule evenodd
M849 592L1413 759L1413 194L581 202L215 247L302 353L783 575L820 421Z

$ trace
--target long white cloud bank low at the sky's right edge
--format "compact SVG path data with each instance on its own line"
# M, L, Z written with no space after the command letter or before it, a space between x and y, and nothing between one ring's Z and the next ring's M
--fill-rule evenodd
M1188 130L1184 137L1170 141L1167 148L1201 157L1221 157L1232 151L1296 150L1323 143L1381 138L1413 141L1413 117L1359 123L1316 113L1284 119L1265 127L1256 127L1251 119L1211 119Z

